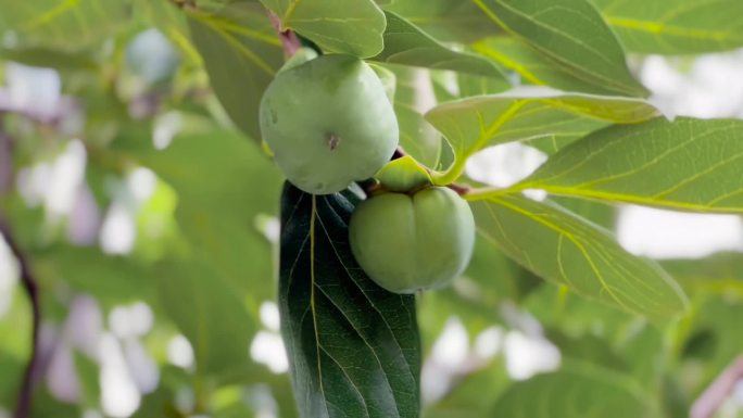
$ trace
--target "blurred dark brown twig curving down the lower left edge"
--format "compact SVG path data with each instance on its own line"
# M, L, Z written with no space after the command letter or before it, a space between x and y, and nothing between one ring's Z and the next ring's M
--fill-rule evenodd
M41 324L41 304L39 302L39 288L34 275L32 274L28 259L18 246L13 237L10 225L4 219L0 218L0 232L5 238L5 242L11 252L18 261L21 267L21 283L23 284L28 300L32 304L32 352L26 370L23 375L23 382L21 384L21 392L18 394L17 404L15 407L15 418L28 418L30 415L32 397L34 392L34 381L37 375L39 363L39 326Z

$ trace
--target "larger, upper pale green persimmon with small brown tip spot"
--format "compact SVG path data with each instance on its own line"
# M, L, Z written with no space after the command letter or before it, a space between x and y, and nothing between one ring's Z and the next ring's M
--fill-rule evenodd
M385 86L350 55L322 55L279 72L263 96L260 119L278 167L313 194L374 176L398 147Z

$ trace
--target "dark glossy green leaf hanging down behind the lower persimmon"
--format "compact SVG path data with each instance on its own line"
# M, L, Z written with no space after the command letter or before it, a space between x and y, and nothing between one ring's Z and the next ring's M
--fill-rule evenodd
M284 190L279 309L299 409L418 417L415 297L379 288L354 261L347 225L356 202Z

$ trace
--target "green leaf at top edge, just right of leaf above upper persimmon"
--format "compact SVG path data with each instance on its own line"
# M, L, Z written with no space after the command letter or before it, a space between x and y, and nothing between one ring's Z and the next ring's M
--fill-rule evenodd
M394 0L383 4L441 41L471 42L493 34L493 24L471 1Z

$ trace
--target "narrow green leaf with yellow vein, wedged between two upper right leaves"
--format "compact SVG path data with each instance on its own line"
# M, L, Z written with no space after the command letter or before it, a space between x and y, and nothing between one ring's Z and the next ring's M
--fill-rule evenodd
M578 91L590 94L616 96L621 93L603 84L588 83L568 67L531 48L521 39L499 36L482 39L473 49L483 56L516 72L524 83L550 86L563 91Z

